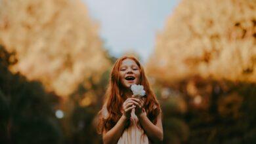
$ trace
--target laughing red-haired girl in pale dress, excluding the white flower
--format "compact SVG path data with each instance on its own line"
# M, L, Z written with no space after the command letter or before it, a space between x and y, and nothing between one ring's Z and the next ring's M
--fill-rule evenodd
M146 96L133 96L132 84L144 86ZM98 130L104 143L163 141L160 105L142 65L132 56L123 56L114 64L104 104L98 114Z

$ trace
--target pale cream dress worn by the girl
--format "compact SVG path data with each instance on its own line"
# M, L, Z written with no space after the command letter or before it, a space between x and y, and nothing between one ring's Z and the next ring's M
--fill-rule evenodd
M102 108L102 115L104 118L108 117L108 110L106 107ZM117 144L148 144L148 136L144 134L144 130L137 126L139 122L138 117L135 115L135 109L131 111L131 125L123 131Z

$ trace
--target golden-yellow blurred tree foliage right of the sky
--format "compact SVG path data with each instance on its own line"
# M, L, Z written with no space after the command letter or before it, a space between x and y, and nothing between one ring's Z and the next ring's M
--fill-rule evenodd
M147 71L160 81L200 75L256 82L255 1L181 1L157 36Z

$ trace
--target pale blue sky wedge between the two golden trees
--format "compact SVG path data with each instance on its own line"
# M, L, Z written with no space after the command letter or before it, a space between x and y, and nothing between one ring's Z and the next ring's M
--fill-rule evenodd
M153 53L156 33L161 32L179 0L83 0L100 37L112 56L139 54L146 62Z

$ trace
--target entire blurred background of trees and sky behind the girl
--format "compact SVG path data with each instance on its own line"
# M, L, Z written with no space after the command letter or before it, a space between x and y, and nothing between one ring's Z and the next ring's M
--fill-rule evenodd
M163 143L256 143L255 0L0 0L0 143L102 143L123 54L146 69Z

